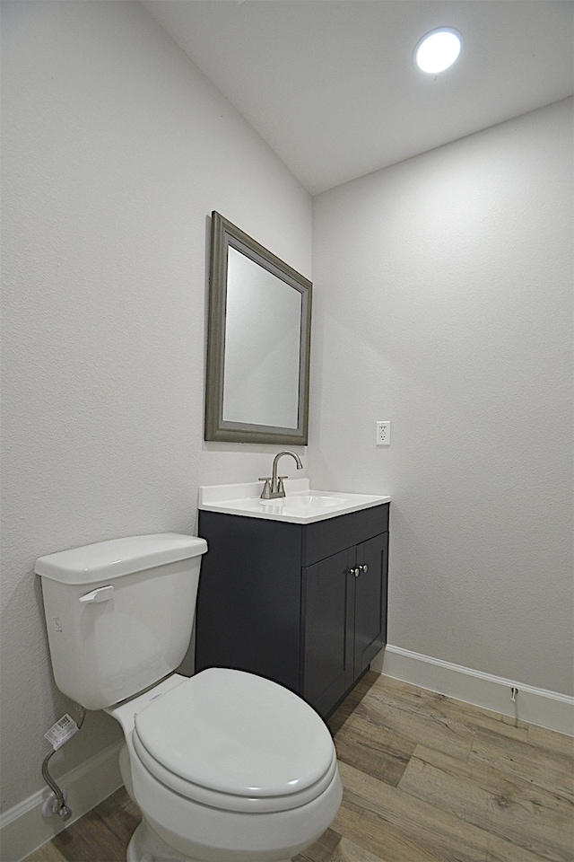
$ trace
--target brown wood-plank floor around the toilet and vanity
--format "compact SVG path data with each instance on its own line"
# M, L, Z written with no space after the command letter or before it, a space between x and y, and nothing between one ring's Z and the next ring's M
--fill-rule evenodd
M574 862L574 739L367 673L331 718L344 801L297 862ZM118 790L25 862L124 862Z

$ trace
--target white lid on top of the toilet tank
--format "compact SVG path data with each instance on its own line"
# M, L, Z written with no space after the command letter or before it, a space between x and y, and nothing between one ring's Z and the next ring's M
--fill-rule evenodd
M176 532L126 536L40 557L34 571L61 584L93 584L180 559L198 557L206 550L204 539Z

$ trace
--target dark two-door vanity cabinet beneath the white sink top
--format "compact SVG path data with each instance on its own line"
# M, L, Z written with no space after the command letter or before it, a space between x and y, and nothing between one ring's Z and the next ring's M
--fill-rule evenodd
M386 643L388 510L305 524L200 511L196 671L257 673L328 717Z

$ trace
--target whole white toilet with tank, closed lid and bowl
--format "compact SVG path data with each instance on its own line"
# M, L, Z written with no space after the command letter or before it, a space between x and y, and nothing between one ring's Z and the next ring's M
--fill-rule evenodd
M127 862L287 860L341 804L333 740L304 700L229 668L174 673L206 550L160 533L36 563L58 688L125 735L120 770L143 816Z

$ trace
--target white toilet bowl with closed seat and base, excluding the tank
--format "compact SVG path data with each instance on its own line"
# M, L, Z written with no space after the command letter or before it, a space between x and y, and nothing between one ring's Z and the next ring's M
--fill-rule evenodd
M341 803L322 719L274 682L224 668L173 674L107 711L126 734L128 792L154 846L160 839L181 854L172 858L291 858ZM142 840L133 839L138 848Z

